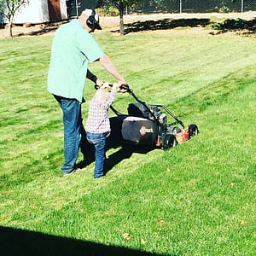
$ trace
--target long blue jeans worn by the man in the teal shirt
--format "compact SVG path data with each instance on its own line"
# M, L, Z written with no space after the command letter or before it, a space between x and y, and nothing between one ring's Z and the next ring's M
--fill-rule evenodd
M79 157L79 144L81 141L82 116L81 103L76 99L67 99L55 96L63 112L64 125L64 165L61 167L63 174L75 169Z

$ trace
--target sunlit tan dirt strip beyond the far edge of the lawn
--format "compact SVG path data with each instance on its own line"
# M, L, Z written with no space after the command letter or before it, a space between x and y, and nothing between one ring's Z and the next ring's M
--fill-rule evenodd
M189 20L189 19L242 19L242 20L253 20L256 18L255 12L246 12L246 13L230 13L230 14L219 14L219 13L209 13L209 14L154 14L154 15L125 15L124 22L125 25L132 24L136 22L143 22L146 20L156 21L156 20ZM64 21L67 22L67 21ZM61 23L46 25L46 24L21 24L15 25L13 28L13 35L15 37L21 36L44 36L53 34L58 26ZM118 31L119 29L119 17L101 17L101 25L103 30L97 31L100 32L109 32L109 31ZM199 24L200 25L200 24ZM166 27L171 29L173 27ZM158 28L160 29L160 28ZM148 29L149 30L149 29ZM132 32L132 31L131 31ZM134 31L139 32L139 31ZM142 32L142 31L141 31ZM199 29L195 26L190 32L199 33ZM205 32L203 32L205 33ZM0 30L0 38L8 38L9 29L5 27Z

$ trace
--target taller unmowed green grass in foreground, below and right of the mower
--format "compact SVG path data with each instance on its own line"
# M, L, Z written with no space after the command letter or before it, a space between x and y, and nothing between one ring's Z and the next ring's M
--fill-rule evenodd
M243 118L255 108L254 92L251 84L197 113L198 137L161 151L129 175L124 169L121 179L49 212L50 224L40 222L36 230L165 255L251 255L255 139L247 144L244 139L252 132L241 128ZM237 137L224 129L234 121L232 111L241 116L232 126ZM241 150L246 144L247 150ZM137 163L140 159L131 158ZM131 241L122 239L124 233ZM143 246L142 239L147 241Z

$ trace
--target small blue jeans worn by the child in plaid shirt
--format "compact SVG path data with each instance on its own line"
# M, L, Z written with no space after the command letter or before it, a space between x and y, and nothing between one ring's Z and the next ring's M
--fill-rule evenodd
M91 133L86 132L89 143L95 146L95 168L94 177L102 177L104 173L104 163L106 160L106 140L108 133Z

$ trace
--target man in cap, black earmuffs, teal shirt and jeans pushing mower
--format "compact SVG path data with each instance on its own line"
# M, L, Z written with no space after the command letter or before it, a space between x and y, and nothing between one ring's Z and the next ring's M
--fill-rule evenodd
M64 165L63 176L75 172L79 156L81 131L84 129L81 117L85 78L102 86L88 70L88 63L99 61L117 83L127 84L110 58L90 35L96 29L102 29L99 17L94 9L85 9L79 19L60 26L53 40L49 73L48 91L55 96L63 112L64 125Z

